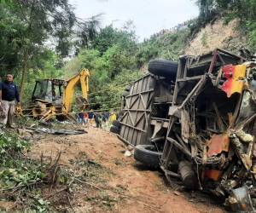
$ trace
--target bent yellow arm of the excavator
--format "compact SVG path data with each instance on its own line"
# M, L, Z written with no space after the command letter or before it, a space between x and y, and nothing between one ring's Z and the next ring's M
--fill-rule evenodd
M75 92L75 87L78 83L81 84L82 96L85 100L88 99L89 92L89 76L90 72L87 69L82 69L77 75L73 76L67 81L67 85L64 87L63 91L63 112L70 112L73 95Z

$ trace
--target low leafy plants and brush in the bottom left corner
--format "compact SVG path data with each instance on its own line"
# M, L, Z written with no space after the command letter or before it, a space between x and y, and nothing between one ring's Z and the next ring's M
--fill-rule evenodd
M50 162L45 162L43 156L40 161L29 158L26 152L30 148L31 143L20 140L14 132L1 132L0 199L21 202L24 212L49 212L50 203L41 187L61 184L59 179L64 177L52 174L53 170L60 170L59 158Z

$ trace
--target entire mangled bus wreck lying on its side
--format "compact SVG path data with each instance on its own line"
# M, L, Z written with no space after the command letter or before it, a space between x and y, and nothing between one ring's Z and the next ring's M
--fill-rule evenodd
M152 60L148 71L125 90L119 138L168 180L253 211L256 63L215 49L178 63Z

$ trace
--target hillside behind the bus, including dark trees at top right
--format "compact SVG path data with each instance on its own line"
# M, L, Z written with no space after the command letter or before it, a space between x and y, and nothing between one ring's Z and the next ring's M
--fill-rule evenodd
M64 76L81 67L90 69L90 102L114 100L104 107L116 107L125 83L139 78L155 58L177 60L180 55L201 55L212 49L228 49L239 54L241 48L256 48L254 1L197 1L196 19L162 30L138 43L131 23L122 29L106 26L96 32L89 45L64 66ZM122 85L122 86L119 86ZM108 89L104 98L98 90ZM96 107L102 108L102 104Z

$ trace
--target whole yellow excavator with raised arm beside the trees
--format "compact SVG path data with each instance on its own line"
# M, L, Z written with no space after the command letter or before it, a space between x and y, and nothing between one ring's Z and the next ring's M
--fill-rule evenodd
M17 108L18 114L32 114L33 118L48 121L51 118L71 119L73 101L76 107L84 109L88 104L90 72L82 69L69 80L41 79L37 80L32 93L32 105L27 109ZM75 94L75 88L80 84L81 95Z

